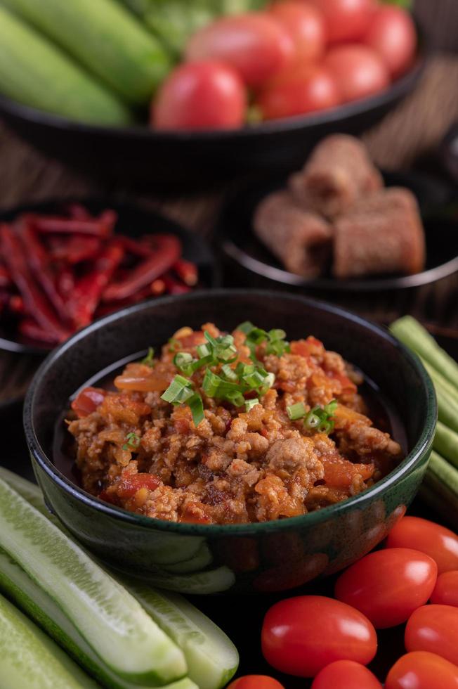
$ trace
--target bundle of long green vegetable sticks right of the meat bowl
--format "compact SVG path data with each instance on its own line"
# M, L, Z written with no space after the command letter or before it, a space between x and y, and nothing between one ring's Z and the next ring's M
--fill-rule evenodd
M438 425L421 496L458 527L458 363L412 316L391 325L391 332L421 359L436 389Z

